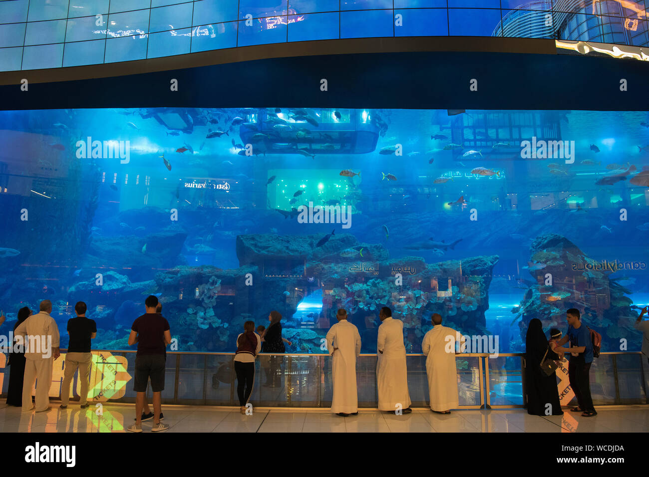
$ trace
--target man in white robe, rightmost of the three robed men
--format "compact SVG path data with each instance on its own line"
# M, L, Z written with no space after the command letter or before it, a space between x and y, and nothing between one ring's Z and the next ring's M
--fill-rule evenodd
M439 313L433 314L432 322L433 329L426 333L421 344L422 352L426 355L430 409L440 414L450 414L450 410L459 406L455 345L456 341L462 341L462 337L453 328L442 326Z

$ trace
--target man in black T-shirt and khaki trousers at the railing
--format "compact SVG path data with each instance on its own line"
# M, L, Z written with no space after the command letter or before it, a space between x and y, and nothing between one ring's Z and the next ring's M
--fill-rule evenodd
M97 324L94 320L86 318L88 307L82 301L75 305L77 317L67 321L67 334L70 336L67 345L66 365L64 370L63 385L61 388L61 408L67 408L70 400L70 384L79 368L79 382L81 383L81 396L79 403L81 409L88 404L88 387L90 387L89 371L92 365L90 340L97 336Z

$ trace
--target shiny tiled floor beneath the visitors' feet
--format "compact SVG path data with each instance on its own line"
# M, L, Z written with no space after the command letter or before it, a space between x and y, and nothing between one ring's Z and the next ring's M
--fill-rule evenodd
M415 409L397 416L360 410L340 417L328 410L258 408L242 415L238 408L163 406L167 432L648 432L649 406L600 406L595 417L565 412L563 416L531 416L525 410L465 410L441 415ZM99 415L101 414L101 415ZM0 404L0 432L125 432L133 422L133 404L104 404L80 410L71 404L62 410L21 413ZM153 421L143 422L144 432Z

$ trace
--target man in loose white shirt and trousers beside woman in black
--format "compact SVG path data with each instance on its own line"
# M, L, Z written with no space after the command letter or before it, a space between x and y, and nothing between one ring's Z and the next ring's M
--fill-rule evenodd
M36 380L36 412L48 411L49 388L52 385L52 367L60 356L58 326L53 317L52 302L43 300L40 313L31 315L14 331L14 336L27 336L25 343L25 374L23 375L22 411L32 411L32 389ZM24 339L24 338L23 338ZM28 348L29 347L29 348Z

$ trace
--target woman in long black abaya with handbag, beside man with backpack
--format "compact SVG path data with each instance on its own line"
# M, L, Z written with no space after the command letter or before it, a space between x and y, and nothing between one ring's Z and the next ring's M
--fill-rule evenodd
M550 350L548 340L543 334L541 320L534 318L528 324L527 336L525 339L525 385L528 398L528 413L538 416L545 416L547 405L552 407L550 415L561 415L561 403L559 402L559 390L557 389L557 373L547 376L541 371L541 361L545 352L548 354L545 359L558 360L559 356Z

